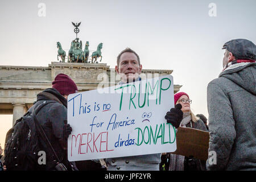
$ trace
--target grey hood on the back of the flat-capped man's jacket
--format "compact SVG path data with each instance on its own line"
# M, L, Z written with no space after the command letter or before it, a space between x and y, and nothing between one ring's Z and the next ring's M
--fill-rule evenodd
M256 94L255 91L255 77L256 77L256 63L249 63L241 67L228 69L221 72L218 77L225 77L233 81L243 89L252 94Z

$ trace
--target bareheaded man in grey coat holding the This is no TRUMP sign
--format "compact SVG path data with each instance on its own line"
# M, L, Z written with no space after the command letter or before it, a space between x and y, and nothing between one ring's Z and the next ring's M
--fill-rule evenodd
M121 53L119 53L115 71L117 71L117 73L119 73L122 78L122 81L119 82L119 85L140 81L141 77L139 77L139 74L141 74L142 65L137 53L130 48L126 48ZM172 110L172 113L173 112L176 113L176 110ZM183 114L182 111L181 114ZM177 117L171 118L174 121L177 121L178 119ZM161 154L137 155L126 156L123 158L106 159L108 170L159 171L160 162Z

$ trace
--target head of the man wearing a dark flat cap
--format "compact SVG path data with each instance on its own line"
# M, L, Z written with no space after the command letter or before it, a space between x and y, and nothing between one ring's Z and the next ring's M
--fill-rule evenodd
M222 49L226 49L223 57L223 68L233 60L256 60L256 46L246 39L233 39L226 42Z

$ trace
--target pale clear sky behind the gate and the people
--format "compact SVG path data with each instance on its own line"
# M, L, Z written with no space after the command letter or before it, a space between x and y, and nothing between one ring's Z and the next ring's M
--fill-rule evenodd
M188 93L192 111L207 111L207 85L222 70L222 46L231 39L256 43L255 0L1 1L0 65L47 67L57 61L56 42L68 52L78 37L90 51L103 43L102 62L114 68L126 47L143 69L171 69ZM12 115L0 115L0 143Z

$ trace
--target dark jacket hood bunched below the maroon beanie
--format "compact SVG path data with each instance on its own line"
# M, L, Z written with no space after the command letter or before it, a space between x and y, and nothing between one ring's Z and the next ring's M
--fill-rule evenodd
M43 92L40 92L37 96L37 101L39 100L53 100L57 101L60 104L63 104L65 107L67 107L67 100L64 96L62 96L58 90L54 88L48 88L45 89Z

